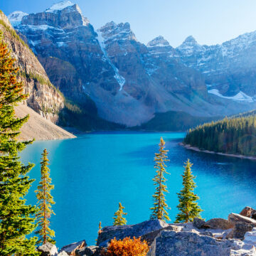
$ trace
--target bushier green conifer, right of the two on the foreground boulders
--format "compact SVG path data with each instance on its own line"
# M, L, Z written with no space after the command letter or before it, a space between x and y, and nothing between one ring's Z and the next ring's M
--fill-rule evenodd
M176 223L188 223L188 221L193 221L196 217L201 218L200 213L202 210L198 206L198 203L196 203L199 197L193 193L194 188L196 188L196 183L193 181L193 178L196 177L193 176L191 172L192 164L189 159L185 164L185 171L182 175L183 188L180 193L177 193L179 201L177 208L180 212L176 216Z

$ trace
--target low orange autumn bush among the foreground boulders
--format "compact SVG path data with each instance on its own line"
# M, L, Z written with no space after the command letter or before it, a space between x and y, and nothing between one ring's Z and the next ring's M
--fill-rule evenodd
M141 238L124 238L123 240L111 240L107 247L105 256L146 256L149 251L149 245Z

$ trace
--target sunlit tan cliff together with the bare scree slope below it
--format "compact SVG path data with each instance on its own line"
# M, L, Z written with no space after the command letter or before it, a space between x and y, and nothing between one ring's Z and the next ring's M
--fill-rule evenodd
M12 17L18 22L22 15L15 13ZM24 102L26 105L15 107L18 117L30 114L30 119L21 129L20 139L73 138L73 134L53 123L58 122L58 114L63 110L63 95L50 83L41 63L1 11L0 31L4 34L4 41L11 49L12 56L17 60L18 80L23 82L25 93L29 94L28 100Z

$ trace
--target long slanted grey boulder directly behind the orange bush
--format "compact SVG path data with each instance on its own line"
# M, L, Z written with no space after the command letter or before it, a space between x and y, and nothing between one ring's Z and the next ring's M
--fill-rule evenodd
M97 238L97 245L100 247L107 247L108 242L113 238L117 238L117 240L124 239L126 237L139 238L140 236L167 227L169 227L169 224L163 220L146 220L143 223L135 225L105 227L102 228L102 232Z

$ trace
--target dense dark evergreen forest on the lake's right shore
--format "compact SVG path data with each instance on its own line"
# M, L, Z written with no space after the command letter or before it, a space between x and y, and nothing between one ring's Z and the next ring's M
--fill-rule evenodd
M255 156L255 135L256 115L249 112L190 129L183 142L203 150Z

